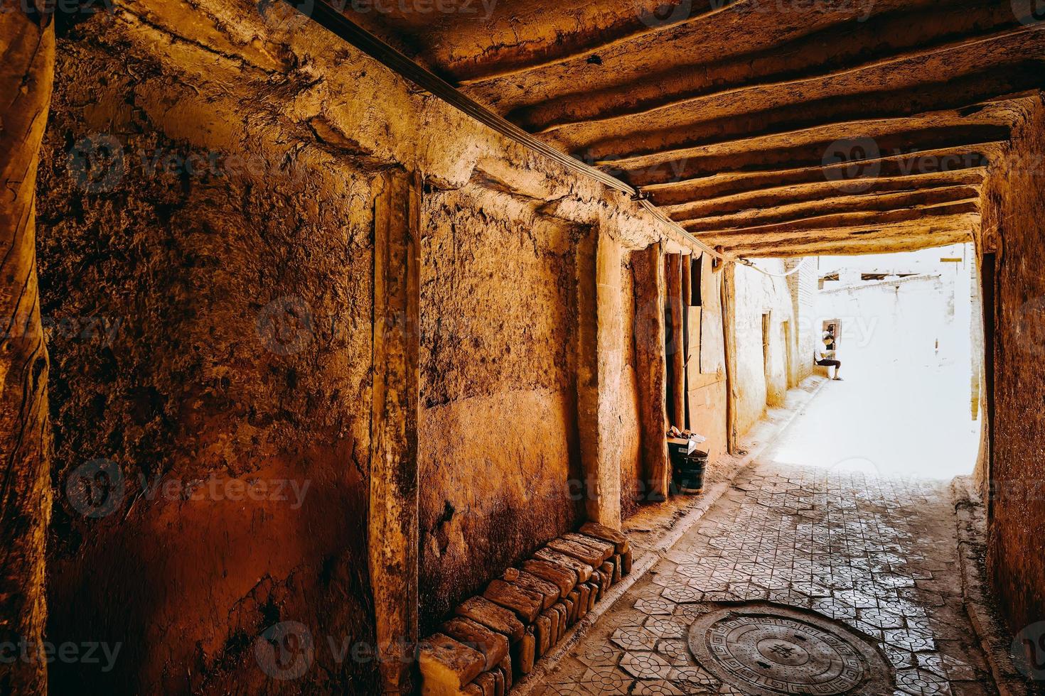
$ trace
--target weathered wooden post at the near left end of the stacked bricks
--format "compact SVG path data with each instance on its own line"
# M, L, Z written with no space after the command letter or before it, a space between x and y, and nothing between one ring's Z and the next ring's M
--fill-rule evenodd
M374 200L368 545L381 689L407 694L414 690L418 630L421 183L398 171L382 184Z

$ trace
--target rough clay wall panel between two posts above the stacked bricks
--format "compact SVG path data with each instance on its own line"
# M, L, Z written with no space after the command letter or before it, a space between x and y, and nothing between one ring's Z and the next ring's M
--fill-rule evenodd
M491 575L574 528L583 509L579 232L506 199L481 190L426 196L422 633Z

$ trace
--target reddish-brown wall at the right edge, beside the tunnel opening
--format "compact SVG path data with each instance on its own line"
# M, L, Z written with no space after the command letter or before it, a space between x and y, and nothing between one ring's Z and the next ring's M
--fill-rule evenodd
M1045 109L1026 116L984 193L997 263L993 511L989 568L1018 631L1045 616Z

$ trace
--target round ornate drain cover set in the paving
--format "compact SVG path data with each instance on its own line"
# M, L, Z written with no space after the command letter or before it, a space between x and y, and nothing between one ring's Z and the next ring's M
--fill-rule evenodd
M770 604L730 606L690 628L701 667L751 696L892 693L885 661L834 622Z

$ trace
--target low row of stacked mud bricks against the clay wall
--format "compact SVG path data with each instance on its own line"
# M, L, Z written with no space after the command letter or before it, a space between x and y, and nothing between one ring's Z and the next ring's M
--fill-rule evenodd
M630 571L631 550L619 531L587 523L552 539L421 641L421 693L504 696Z

